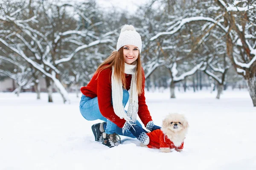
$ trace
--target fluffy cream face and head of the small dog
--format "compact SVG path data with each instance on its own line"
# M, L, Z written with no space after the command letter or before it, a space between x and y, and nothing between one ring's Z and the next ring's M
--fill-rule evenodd
M187 122L185 116L178 113L169 114L165 119L163 119L163 128L172 130L173 132L179 132L180 130L185 130L188 128L189 123Z

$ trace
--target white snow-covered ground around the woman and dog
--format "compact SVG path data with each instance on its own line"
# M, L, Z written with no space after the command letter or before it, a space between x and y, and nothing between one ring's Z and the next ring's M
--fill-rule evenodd
M171 112L186 115L190 127L178 153L140 147L121 136L122 144L108 148L95 142L91 125L79 113L79 98L54 103L47 94L0 93L0 170L255 170L256 108L247 91L216 93L146 92L156 125Z

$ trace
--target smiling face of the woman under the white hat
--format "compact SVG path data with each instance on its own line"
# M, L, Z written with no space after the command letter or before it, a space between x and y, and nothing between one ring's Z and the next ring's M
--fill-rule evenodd
M139 48L135 45L125 45L123 48L125 63L132 64L139 57Z

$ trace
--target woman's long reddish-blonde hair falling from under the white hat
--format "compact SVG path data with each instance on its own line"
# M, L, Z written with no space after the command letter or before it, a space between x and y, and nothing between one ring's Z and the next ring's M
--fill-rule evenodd
M137 85L137 91L138 94L142 94L143 92L143 74L142 74L142 65L140 61L140 53L139 57L137 58L137 67L135 72L135 79L136 79L136 85ZM108 65L107 65L108 64ZM123 53L123 47L121 47L118 51L113 51L111 55L105 59L104 62L102 62L101 65L97 68L95 73L100 73L102 70L111 68L114 66L114 76L118 80L122 80L123 87L126 87L126 81L125 81L125 58ZM99 76L99 74L98 74Z

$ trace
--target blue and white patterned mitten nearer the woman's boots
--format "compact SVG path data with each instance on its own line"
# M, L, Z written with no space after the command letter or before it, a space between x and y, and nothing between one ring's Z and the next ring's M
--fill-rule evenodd
M142 127L125 122L125 125L122 128L123 130L130 130L131 133L144 145L149 144L149 137L146 134L148 132Z

